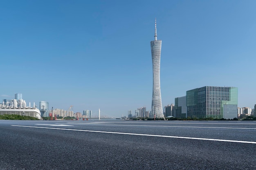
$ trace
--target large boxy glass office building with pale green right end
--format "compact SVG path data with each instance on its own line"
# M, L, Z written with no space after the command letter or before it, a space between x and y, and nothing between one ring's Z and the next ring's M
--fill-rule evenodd
M237 87L205 86L186 92L187 117L237 118Z

